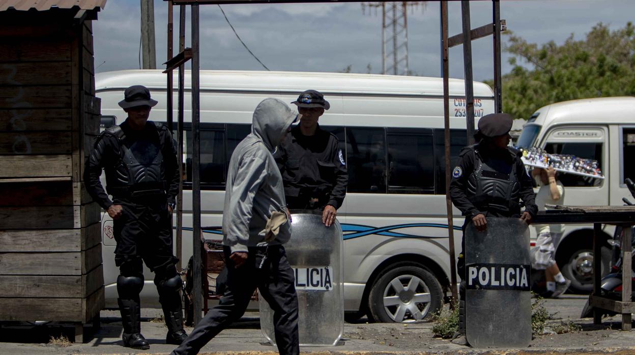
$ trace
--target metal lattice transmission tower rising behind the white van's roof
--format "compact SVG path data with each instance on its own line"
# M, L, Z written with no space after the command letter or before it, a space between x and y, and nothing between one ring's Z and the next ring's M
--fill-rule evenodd
M414 10L425 1L362 3L366 8L382 9L382 74L408 75L408 9Z

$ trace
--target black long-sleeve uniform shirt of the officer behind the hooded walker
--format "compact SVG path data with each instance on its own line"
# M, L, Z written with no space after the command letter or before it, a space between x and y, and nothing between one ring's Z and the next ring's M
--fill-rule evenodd
M314 135L305 136L300 126L295 126L280 145L276 162L286 196L320 198L326 195L326 204L336 209L342 206L349 176L335 135L318 125Z

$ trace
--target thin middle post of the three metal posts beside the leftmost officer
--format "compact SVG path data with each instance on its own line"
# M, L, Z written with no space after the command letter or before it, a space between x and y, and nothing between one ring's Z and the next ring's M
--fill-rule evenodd
M185 49L185 5L179 6L178 18L178 51ZM183 115L185 109L185 65L178 66L178 195L177 195L177 270L183 269Z

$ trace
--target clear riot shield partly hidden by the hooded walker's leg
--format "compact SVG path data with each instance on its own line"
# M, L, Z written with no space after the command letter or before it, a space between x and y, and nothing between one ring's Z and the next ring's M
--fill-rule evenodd
M295 272L300 346L335 345L344 333L342 227L337 220L325 227L316 211L291 211L291 220L291 240L284 249ZM262 297L260 328L276 345L273 311Z

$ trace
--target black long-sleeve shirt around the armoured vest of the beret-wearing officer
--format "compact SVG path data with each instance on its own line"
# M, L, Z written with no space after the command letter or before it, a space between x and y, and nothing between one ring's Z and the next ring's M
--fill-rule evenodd
M538 206L535 201L533 185L531 177L528 175L523 161L520 159L520 152L516 149L509 148L502 153L490 152L482 145L477 145L479 154L485 159L489 159L488 164L516 164L516 173L518 174L518 182L521 185L520 198L525 203L525 211L529 212L531 217L536 217ZM464 216L472 218L479 213L488 211L479 210L467 198L465 191L470 175L474 172L474 146L465 147L458 156L457 166L453 170L452 179L450 181L450 198L452 203L463 213ZM506 216L510 217L510 216Z

